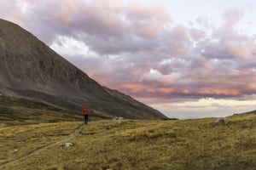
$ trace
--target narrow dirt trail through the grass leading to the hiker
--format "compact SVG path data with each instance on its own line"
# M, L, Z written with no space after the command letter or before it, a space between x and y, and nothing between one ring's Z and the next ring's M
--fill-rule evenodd
M25 156L22 156L22 157L20 157L20 158L14 160L14 161L9 161L9 162L3 163L2 165L0 165L0 169L2 169L3 167L9 166L10 164L13 164L13 163L16 163L16 162L18 162L18 161L24 160L24 159L26 159L27 157L34 156L34 155L38 154L39 152L44 151L44 150L47 150L47 149L49 149L50 147L52 147L52 146L54 146L54 145L56 145L56 144L61 144L61 143L65 142L65 141L67 141L67 140L69 140L69 139L73 139L75 136L77 136L77 135L83 130L83 128L84 128L84 124L83 124L83 125L80 125L79 128L75 129L74 132L71 133L71 134L69 134L67 138L61 139L61 140L59 140L59 141L57 141L57 142L55 142L55 143L53 143L53 144L46 145L46 146L44 146L43 148L40 148L40 149L38 149L38 150L35 150L35 151L33 151L32 153L27 154L27 155L25 155Z

